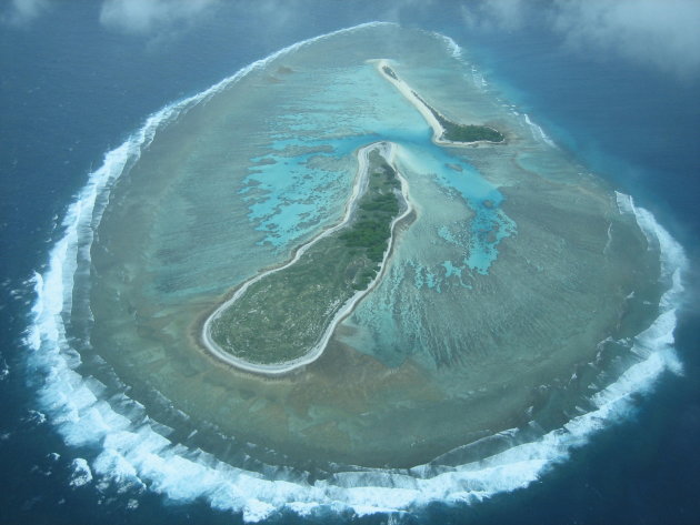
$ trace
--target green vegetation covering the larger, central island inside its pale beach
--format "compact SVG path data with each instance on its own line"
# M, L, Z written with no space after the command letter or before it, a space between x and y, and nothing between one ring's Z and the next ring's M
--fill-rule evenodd
M396 171L373 150L369 180L351 222L314 244L293 264L269 273L211 323L212 340L251 363L306 355L343 304L367 290L380 270L391 222L404 206Z

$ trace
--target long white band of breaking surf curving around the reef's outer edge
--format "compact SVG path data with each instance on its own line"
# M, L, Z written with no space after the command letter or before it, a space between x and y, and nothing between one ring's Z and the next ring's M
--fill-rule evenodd
M343 31L368 26L372 24ZM538 479L551 465L564 461L572 447L584 444L599 428L626 415L633 393L649 390L664 370L679 370L671 345L684 255L650 213L632 204L641 228L658 239L664 275L672 281L663 296L661 315L637 337L634 347L640 362L596 394L594 411L540 440L512 446L483 461L459 466L421 465L411 471L414 475L381 470L347 472L313 484L266 478L174 444L156 432L148 420L131 421L100 398L100 385L74 370L80 357L67 341L63 324L70 316L79 251L90 244L92 228L100 219L98 196L109 191L110 184L138 159L157 130L182 111L274 58L327 37L286 48L203 93L154 113L141 130L106 155L103 165L90 174L87 186L69 208L63 221L66 234L52 249L48 270L34 276L37 300L27 343L33 349L31 363L47 374L40 401L51 422L67 443L98 451L89 463L74 464L77 471L84 473L83 478L91 472L119 485L148 486L177 502L204 498L212 507L241 513L248 522L261 521L281 508L299 514L319 508L371 514L410 511L434 501L470 503ZM421 476L421 472L430 474Z

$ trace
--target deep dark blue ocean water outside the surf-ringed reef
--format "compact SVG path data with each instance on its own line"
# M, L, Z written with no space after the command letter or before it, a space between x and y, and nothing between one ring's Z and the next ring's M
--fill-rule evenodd
M239 523L204 503L173 505L147 494L129 509L130 494L69 486L79 451L32 412L36 384L22 364L32 300L27 280L48 262L57 224L91 166L146 115L283 46L376 17L369 7L327 4L270 29L223 9L189 32L149 40L104 30L98 11L73 2L23 28L0 27L0 523ZM467 47L492 85L653 211L691 264L697 260L699 79L562 51L546 32L468 32L447 11L418 14L401 21ZM436 504L408 523L697 523L699 321L689 307L677 331L684 375L663 376L633 418L598 434L527 489L471 507ZM293 515L273 522L304 523Z

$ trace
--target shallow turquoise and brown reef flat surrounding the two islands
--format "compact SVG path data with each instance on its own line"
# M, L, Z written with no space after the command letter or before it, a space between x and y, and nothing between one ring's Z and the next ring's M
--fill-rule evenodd
M74 305L71 341L89 334L82 371L119 377L157 416L172 410L164 421L188 446L237 464L253 457L323 472L459 465L466 446L482 457L493 448L481 440L544 434L590 406L641 359L634 337L660 315L661 241L450 49L439 36L387 24L324 37L251 65L167 113L142 132L142 145L114 153L126 168L100 193L74 300L64 301ZM436 140L442 125L416 94L451 122L506 140ZM246 363L284 370L328 336L322 353L276 376L212 357L207 319L343 222L358 151L377 142L394 144L387 164L410 188L412 213L394 224L391 249L370 254L369 236L336 231L342 256L326 259L324 238L306 252L328 271L297 266L302 253L288 267L308 271L293 289L279 281L262 293L264 279L254 301L241 295L244 309L232 303L239 317L229 326L266 322L254 313L252 325L243 322L260 305L289 322L231 330L257 341L249 350L262 357ZM401 210L399 201L394 219ZM357 267L346 259L352 249ZM357 271L341 282L342 267ZM332 291L314 295L326 306L309 300L309 316L293 316L304 294L321 291ZM361 300L339 316L356 293ZM272 353L272 333L284 344L293 333L296 350ZM254 446L241 452L240 443Z

